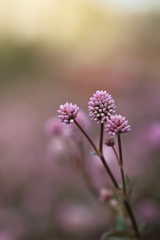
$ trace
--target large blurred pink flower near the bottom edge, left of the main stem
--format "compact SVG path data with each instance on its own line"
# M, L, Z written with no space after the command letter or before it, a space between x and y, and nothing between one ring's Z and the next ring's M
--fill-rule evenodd
M97 230L104 226L104 216L97 217L92 208L86 205L64 202L60 204L54 213L57 223L63 228L63 231L74 235L83 236L88 232Z

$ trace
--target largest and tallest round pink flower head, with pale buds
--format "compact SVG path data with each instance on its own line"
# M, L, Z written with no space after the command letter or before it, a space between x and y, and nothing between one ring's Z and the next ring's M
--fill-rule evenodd
M89 116L91 120L99 123L106 122L115 114L115 102L106 91L96 91L88 102Z

